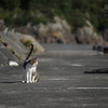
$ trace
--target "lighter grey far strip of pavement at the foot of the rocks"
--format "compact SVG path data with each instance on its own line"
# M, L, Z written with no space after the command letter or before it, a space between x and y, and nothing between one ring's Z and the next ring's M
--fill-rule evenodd
M93 45L85 44L42 44L45 48L46 54L57 55L97 55L96 51L93 51Z

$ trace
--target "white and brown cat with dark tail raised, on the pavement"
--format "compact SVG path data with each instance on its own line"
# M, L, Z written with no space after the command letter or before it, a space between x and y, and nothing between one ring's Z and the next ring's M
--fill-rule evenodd
M24 64L23 64L23 83L35 83L39 81L39 75L37 71L38 60L37 57L32 57L28 60L29 56L31 55L33 50L33 44L31 44L31 50L26 57ZM26 79L26 81L25 81Z

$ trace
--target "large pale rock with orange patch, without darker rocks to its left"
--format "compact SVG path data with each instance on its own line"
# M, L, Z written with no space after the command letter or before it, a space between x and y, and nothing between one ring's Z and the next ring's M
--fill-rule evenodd
M55 23L40 24L37 29L40 42L45 43L76 43L70 27L65 19L54 17ZM43 41L43 39L44 41Z

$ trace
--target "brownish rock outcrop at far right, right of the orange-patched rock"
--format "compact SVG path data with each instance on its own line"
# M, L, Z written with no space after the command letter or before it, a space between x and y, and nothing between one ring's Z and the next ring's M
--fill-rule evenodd
M102 36L97 36L90 27L78 28L76 32L77 43L82 44L108 44Z

